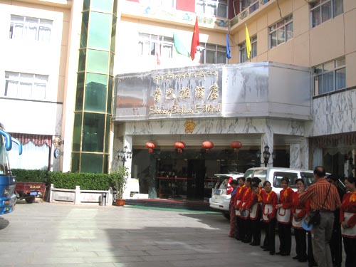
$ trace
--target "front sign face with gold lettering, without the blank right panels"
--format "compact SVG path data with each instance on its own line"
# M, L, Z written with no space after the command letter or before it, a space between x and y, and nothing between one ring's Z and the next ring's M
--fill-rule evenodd
M121 76L116 85L120 116L135 119L221 116L221 68L137 73Z

